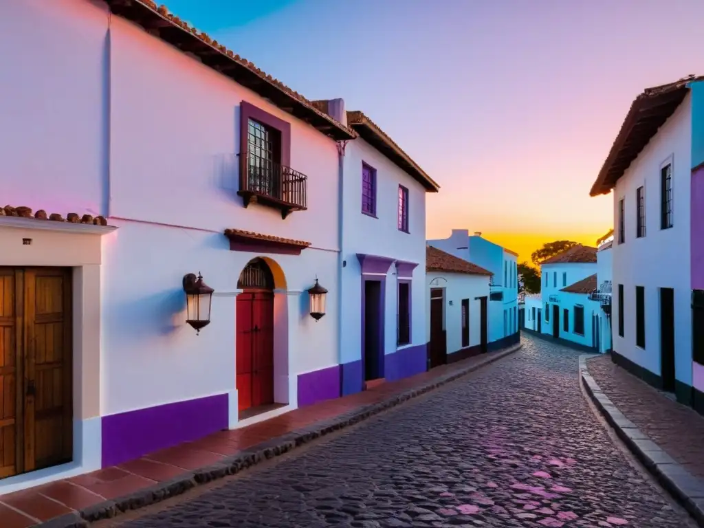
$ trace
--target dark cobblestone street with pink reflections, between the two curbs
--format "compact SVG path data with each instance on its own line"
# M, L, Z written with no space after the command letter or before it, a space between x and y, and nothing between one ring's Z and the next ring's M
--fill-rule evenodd
M523 342L428 396L120 526L689 526L591 413L579 353Z

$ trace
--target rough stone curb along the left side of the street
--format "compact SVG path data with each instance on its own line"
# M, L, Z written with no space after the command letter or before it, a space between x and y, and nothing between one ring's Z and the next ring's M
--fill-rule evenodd
M372 405L355 409L349 413L344 413L328 420L315 422L307 427L297 429L283 436L278 436L277 438L247 448L237 453L237 455L223 458L216 464L201 467L191 472L184 472L174 479L159 482L149 488L135 491L133 494L115 498L112 501L105 501L91 506L90 508L80 510L77 513L62 515L61 517L56 517L43 523L34 524L34 526L42 528L85 528L89 526L91 522L111 519L122 513L165 501L167 498L183 494L196 486L239 473L242 470L246 470L248 467L257 465L263 460L283 455L321 436L367 420L367 418L382 413L384 410L396 407L411 398L422 396L422 394L437 389L439 386L453 382L455 379L470 374L470 372L474 372L490 363L494 363L496 360L500 360L519 350L522 346L522 344L518 343L503 348L503 350L500 351L490 352L486 355L486 359L480 363L438 377L432 382L415 387L415 389L410 389L401 394L395 394L382 402L373 403Z

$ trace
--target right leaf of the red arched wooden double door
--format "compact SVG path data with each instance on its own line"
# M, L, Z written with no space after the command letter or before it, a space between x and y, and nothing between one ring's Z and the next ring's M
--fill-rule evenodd
M274 403L274 296L253 295L252 406Z

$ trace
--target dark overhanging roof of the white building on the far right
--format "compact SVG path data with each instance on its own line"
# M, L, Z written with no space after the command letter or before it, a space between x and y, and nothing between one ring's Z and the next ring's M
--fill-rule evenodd
M690 75L676 82L646 88L631 103L589 196L609 194L660 127L677 110L691 84L704 77Z

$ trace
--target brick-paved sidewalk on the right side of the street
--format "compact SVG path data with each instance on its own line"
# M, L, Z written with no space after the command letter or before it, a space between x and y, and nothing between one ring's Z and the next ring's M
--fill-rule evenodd
M615 365L587 360L589 373L613 404L686 470L704 477L704 417Z

